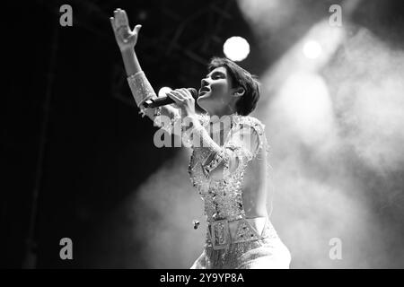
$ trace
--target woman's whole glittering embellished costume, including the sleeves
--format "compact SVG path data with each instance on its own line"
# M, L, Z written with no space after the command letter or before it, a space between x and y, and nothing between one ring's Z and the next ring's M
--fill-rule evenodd
M143 93L144 98L153 97L145 81L133 83L129 81L135 98L142 89L149 92ZM143 100L137 97L136 102ZM180 121L177 116L168 125L162 124L161 110L154 110L153 115L154 124L169 132ZM215 131L209 135L212 122L207 115L198 116L199 126L181 129L183 142L192 149L189 176L204 201L208 223L205 248L191 268L288 268L290 253L268 216L247 218L242 198L250 162L267 156L265 126L255 117L233 114L228 118L228 126L217 130L224 139L220 144L213 140ZM219 167L223 174L213 178L212 172Z

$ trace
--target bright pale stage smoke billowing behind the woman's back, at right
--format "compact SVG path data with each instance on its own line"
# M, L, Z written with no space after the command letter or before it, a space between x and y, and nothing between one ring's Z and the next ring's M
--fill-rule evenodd
M292 267L397 267L404 259L404 182L397 177L404 170L404 53L361 29L322 74L332 105L317 106L322 120L309 117L309 125L304 105L288 102L293 97L284 87L272 89L277 94L260 110L273 151L273 221L291 248ZM318 85L303 81L294 91L325 92L312 84ZM307 140L308 126L315 140ZM331 238L342 240L340 261L329 258Z

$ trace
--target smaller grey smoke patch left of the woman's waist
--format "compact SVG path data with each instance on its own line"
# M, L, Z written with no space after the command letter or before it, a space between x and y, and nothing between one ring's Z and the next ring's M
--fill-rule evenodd
M134 221L132 236L141 242L149 268L189 268L205 242L203 202L187 170L189 151L179 154L148 178L127 206ZM198 230L194 219L201 223Z

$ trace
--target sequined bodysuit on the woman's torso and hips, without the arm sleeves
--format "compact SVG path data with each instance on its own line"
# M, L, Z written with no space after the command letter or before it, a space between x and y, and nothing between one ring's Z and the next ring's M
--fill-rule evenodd
M206 129L209 118L200 116ZM191 268L287 268L290 254L276 230L266 218L262 232L249 221L242 200L242 181L250 161L259 152L267 154L268 143L265 126L255 117L235 115L225 136L223 150L232 151L238 158L236 170L230 170L224 162L223 178L209 178L206 164L215 167L215 157L206 161L206 150L193 149L189 161L189 175L205 204L206 244L204 251ZM226 134L226 132L224 132ZM250 135L240 141L238 135ZM220 158L225 161L225 156Z

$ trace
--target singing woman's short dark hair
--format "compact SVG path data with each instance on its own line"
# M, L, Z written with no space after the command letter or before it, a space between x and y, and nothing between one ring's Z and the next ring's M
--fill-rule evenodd
M210 73L221 66L224 66L227 74L232 77L233 88L242 87L245 91L240 100L236 102L237 113L242 116L249 115L255 109L259 100L260 89L257 77L224 57L213 57L207 66L207 70Z

